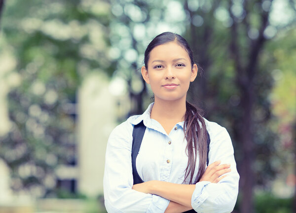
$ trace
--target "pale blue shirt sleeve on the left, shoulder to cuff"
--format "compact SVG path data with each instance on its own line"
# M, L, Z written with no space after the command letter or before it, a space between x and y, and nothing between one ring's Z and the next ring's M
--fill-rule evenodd
M164 213L169 200L132 189L132 130L129 122L123 122L108 140L104 172L106 210L108 213Z

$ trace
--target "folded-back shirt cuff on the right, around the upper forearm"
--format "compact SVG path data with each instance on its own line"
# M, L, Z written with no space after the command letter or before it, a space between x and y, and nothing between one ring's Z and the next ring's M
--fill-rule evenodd
M194 210L197 208L209 197L209 194L204 190L205 186L211 182L201 181L195 184L195 189L191 197L191 206Z

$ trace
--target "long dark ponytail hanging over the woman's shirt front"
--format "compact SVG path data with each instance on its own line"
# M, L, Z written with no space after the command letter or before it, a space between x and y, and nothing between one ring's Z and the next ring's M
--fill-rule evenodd
M199 112L201 112L200 109L195 108L192 104L186 101L184 134L187 140L186 151L188 162L185 169L185 180L190 175L189 184L199 182L205 172L207 162L207 130L205 121ZM193 180L197 151L199 155L198 173L195 180Z

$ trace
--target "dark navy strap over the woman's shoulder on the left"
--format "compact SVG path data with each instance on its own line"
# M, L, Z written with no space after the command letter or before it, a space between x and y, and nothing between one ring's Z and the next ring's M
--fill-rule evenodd
M132 144L132 168L133 168L134 184L144 183L144 181L140 178L136 168L136 158L141 147L145 130L146 130L146 126L144 125L143 121L138 123L137 125L134 125L133 144Z

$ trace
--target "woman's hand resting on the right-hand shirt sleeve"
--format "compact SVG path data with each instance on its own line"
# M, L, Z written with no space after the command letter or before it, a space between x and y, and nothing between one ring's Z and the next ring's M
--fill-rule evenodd
M227 175L224 175L225 173L228 173L231 171L230 164L221 164L221 160L218 160L212 164L210 164L203 176L200 178L201 181L209 181L212 183L218 183L223 178L225 178ZM223 175L223 176L222 176Z

